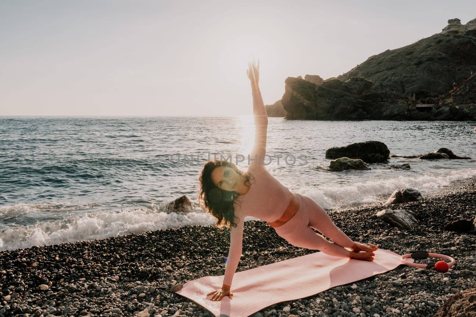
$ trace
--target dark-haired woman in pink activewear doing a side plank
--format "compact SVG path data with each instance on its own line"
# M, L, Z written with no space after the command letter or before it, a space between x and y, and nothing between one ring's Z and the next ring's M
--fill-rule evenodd
M199 178L200 201L204 202L207 212L217 218L218 226L228 225L230 228L230 249L223 285L221 289L207 294L213 294L211 300L221 300L227 295L233 297L231 281L241 257L245 216L267 221L280 237L300 248L367 261L374 259L372 251L377 250L377 245L350 240L316 202L290 192L268 173L263 164L268 116L258 86L259 59L258 65L254 62L248 65L247 74L251 81L255 122L255 144L249 155L248 171L243 173L233 163L215 160L205 164ZM313 229L334 242L326 240Z

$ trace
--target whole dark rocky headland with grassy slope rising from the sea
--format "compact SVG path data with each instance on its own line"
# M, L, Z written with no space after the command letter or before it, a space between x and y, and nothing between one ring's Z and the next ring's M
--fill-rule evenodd
M476 78L437 102L476 72L476 19L459 26L456 20L441 33L371 56L337 79L288 77L281 99L286 118L476 120ZM426 98L436 106L415 109Z

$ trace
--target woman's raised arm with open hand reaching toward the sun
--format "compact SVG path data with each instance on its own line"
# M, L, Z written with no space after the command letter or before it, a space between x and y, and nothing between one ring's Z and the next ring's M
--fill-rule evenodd
M262 164L266 154L266 139L268 136L268 115L261 91L259 90L259 59L258 65L254 62L248 64L246 71L251 82L251 95L253 96L253 116L255 122L255 144L250 154L250 164ZM253 160L253 161L252 161Z

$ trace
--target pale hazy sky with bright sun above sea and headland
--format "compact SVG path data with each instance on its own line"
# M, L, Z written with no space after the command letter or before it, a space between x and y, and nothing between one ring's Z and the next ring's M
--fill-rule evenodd
M273 104L454 18L474 0L0 0L0 115L251 115L253 57Z

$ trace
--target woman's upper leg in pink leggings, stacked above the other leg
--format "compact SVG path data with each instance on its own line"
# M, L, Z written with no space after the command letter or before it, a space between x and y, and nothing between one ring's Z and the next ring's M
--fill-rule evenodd
M308 209L309 227L316 229L342 247L351 248L354 245L354 241L337 228L321 206L307 196L300 195L298 198L300 199L299 204L301 204L301 200L303 200L302 203L304 203Z

